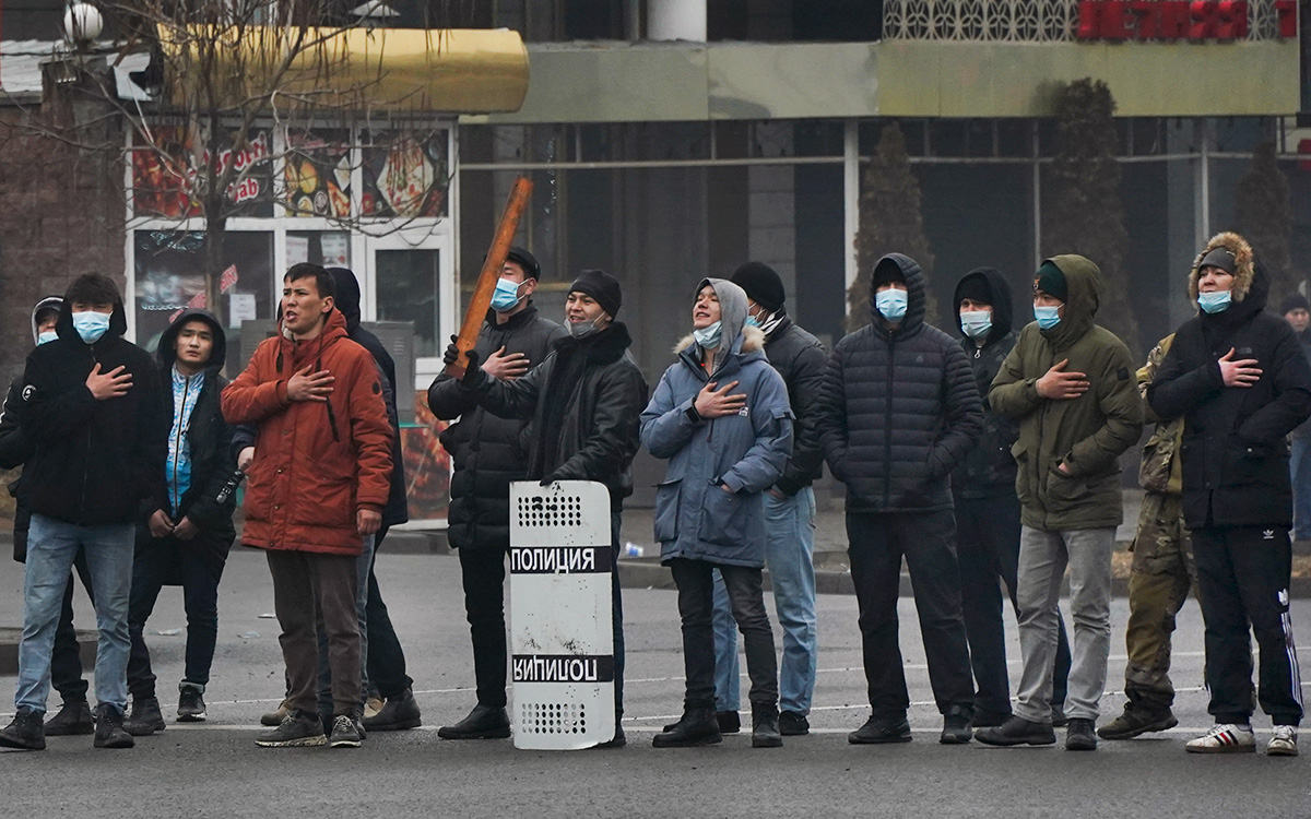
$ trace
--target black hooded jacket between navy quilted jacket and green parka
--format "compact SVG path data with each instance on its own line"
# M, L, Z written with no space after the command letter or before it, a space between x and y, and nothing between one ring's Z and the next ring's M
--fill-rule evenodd
M992 305L992 329L981 347L965 334L961 328L961 290L970 279L983 279L988 290L988 304ZM956 297L952 301L956 314L956 329L961 332L961 347L974 368L974 384L983 400L983 434L965 455L961 465L952 472L952 494L957 498L991 498L1015 494L1015 457L1011 447L1020 436L1020 427L996 413L987 401L987 390L1002 370L1017 334L1011 329L1015 305L1011 300L1011 286L995 267L977 267L965 274L956 284Z

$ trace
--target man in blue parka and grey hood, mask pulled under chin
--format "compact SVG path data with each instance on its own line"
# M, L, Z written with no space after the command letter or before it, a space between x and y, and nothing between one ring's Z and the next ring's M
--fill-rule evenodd
M713 574L728 587L751 677L753 747L779 747L779 675L764 611L764 503L792 455L788 388L770 366L764 334L746 325L737 284L703 279L691 337L642 413L642 443L669 459L656 493L656 540L674 573L683 621L683 718L657 748L721 740L714 719Z

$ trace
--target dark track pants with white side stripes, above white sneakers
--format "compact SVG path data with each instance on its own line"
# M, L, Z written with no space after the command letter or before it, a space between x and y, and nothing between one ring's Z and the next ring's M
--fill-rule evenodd
M1302 677L1289 616L1289 529L1193 529L1197 599L1206 621L1207 712L1217 723L1252 717L1252 641L1261 650L1261 710L1274 725L1302 722Z

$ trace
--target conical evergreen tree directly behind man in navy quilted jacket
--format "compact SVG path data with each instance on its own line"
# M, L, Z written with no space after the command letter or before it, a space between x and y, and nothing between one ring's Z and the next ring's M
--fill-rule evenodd
M903 253L924 269L926 279L933 270L933 252L924 236L920 215L919 180L910 169L906 135L897 123L885 126L878 138L878 151L865 170L860 194L860 229L856 232L856 265L859 275L847 291L847 329L869 324L869 279L874 263L888 253ZM932 287L926 288L924 321L937 320L937 300Z

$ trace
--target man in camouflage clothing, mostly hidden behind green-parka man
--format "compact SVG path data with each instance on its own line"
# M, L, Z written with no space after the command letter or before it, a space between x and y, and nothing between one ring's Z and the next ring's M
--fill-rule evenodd
M1138 390L1143 396L1156 376L1156 368L1169 352L1173 334L1163 338L1138 371ZM1125 713L1097 730L1103 739L1130 739L1179 725L1171 705L1175 687L1169 681L1169 638L1175 616L1197 583L1193 548L1184 529L1184 486L1179 449L1184 418L1158 418L1143 401L1143 414L1155 421L1152 436L1143 447L1138 482L1143 506L1130 549L1134 553L1129 574L1129 626L1125 643Z

